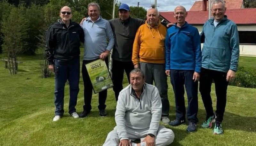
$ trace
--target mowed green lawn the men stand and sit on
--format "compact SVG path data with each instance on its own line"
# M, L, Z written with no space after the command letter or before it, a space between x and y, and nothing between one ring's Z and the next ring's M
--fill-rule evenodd
M68 114L68 85L65 88L65 114L58 122L54 117L54 78L41 78L39 56L19 58L17 75L10 75L0 62L0 146L101 146L107 134L115 127L115 97L108 89L107 117L99 117L98 95L92 97L92 111L86 118L74 119ZM81 58L82 59L82 58ZM255 67L256 58L241 57L240 64ZM250 62L250 63L249 63ZM82 61L81 61L82 65ZM256 67L255 67L256 68ZM80 92L77 112L82 112L83 80L80 74ZM128 85L124 81L124 87ZM175 119L175 102L168 78L170 119ZM212 134L212 129L200 127L205 118L204 106L198 94L199 111L197 132L188 134L187 125L171 127L175 134L172 146L256 146L256 89L228 87L227 107L223 120L223 135ZM185 95L186 99L186 95ZM212 85L213 107L216 96ZM187 102L187 100L186 100ZM162 124L162 123L161 123Z

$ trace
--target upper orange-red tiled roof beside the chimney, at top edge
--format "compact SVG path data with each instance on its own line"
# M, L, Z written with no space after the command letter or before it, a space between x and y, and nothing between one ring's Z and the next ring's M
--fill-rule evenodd
M243 4L243 0L225 0L225 5L227 10L231 9L241 9ZM209 1L207 1L207 10L209 8ZM203 1L196 1L189 11L202 11L203 9Z

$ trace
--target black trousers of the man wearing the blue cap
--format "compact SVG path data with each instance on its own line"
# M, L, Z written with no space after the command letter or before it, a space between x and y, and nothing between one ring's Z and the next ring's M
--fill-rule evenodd
M112 61L112 80L113 90L115 92L116 101L118 100L119 92L123 89L124 71L127 75L130 83L130 72L134 69L132 61L122 62L113 60Z

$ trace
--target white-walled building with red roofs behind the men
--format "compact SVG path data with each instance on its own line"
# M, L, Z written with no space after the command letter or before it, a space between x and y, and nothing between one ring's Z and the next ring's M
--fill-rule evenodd
M208 0L196 1L188 11L186 21L201 33L208 20ZM240 41L240 55L256 55L256 8L244 8L243 0L225 0L225 15L237 25ZM201 5L201 6L200 6ZM168 22L176 22L174 12L159 12Z

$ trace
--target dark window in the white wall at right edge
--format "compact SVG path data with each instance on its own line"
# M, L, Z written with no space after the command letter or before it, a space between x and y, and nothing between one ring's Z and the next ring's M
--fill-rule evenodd
M240 44L256 44L256 31L238 31Z

